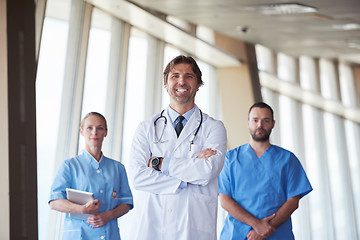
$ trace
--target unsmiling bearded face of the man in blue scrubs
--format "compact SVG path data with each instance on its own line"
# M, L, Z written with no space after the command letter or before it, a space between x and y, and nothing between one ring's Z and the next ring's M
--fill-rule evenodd
M248 126L252 140L267 142L275 125L272 113L268 108L254 107L249 113Z

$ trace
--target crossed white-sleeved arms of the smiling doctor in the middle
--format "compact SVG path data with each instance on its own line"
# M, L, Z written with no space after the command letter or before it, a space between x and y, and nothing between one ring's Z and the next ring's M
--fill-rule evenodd
M168 148L174 147L174 142L162 145L151 144L152 138L151 136L149 138L148 132L152 125L149 127L147 123L140 124L134 135L130 153L132 160L129 175L133 187L155 194L173 194L179 191L183 183L206 186L215 179L224 164L226 130L221 122L217 122L210 125L211 131L209 131L207 121L203 124L203 128L206 129L199 133L201 138L197 142L197 147L203 148L203 151L198 156L188 152L187 142L176 149L178 151L176 154L174 150L168 151ZM193 150L195 152L195 149ZM160 160L162 161L160 172L151 169L149 161L152 156L165 157L165 160ZM165 163L166 167L164 167Z

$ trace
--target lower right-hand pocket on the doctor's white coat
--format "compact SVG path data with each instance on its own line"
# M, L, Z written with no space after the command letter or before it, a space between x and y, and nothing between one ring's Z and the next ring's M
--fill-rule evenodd
M217 214L217 198L193 192L194 202L190 205L191 226L204 232L214 232Z

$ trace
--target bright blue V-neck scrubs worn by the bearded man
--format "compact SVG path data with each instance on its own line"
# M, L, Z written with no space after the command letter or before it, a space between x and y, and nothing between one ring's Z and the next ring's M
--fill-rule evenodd
M271 145L259 159L250 144L230 150L219 177L219 193L232 197L258 219L271 216L289 198L312 191L306 173L290 151ZM246 239L251 230L228 214L222 240ZM294 239L291 218L268 239Z

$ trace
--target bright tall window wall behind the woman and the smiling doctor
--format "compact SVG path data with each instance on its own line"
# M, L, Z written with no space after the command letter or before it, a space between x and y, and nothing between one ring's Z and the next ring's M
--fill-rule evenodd
M87 23L91 23L90 29ZM129 31L128 49L121 49L126 46ZM167 64L181 54L176 47L167 45L163 48L162 41L131 28L87 2L47 1L36 82L40 240L61 239L62 236L64 214L50 211L48 194L62 161L84 148L83 138L79 138L79 119L88 112L96 111L107 118L108 125L112 121L111 126L116 128L116 133L109 129L109 134L121 134L117 134L115 140L109 139L108 135L103 148L111 145L111 150L121 149L115 151L116 157L113 158L121 160L127 167L135 129L140 121L147 118L149 104L154 105L153 102L158 101L149 98L149 95L158 91L157 96L163 96L162 104L159 101L156 108L169 104L163 87L159 88L159 85L151 91L148 88L154 81L161 81L163 86L162 79L158 78L162 73L154 73L154 69L158 69L154 63L156 59L164 59L164 64ZM127 64L121 62L126 54ZM116 61L114 55L118 56ZM203 112L218 118L216 69L199 59L197 63L205 85L197 93L196 103ZM153 78L151 83L150 78ZM121 144L114 145L117 142ZM104 154L112 157L114 151L104 150ZM120 218L124 240L131 239L131 219L132 211Z

